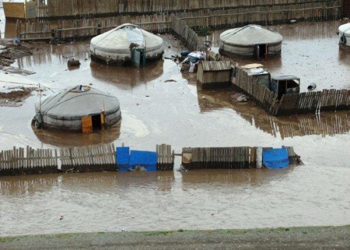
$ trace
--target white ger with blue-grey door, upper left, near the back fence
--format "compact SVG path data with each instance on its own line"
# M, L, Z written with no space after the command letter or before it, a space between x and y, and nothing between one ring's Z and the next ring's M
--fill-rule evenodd
M91 60L106 64L132 62L136 66L162 56L163 39L130 23L97 35L91 39Z

